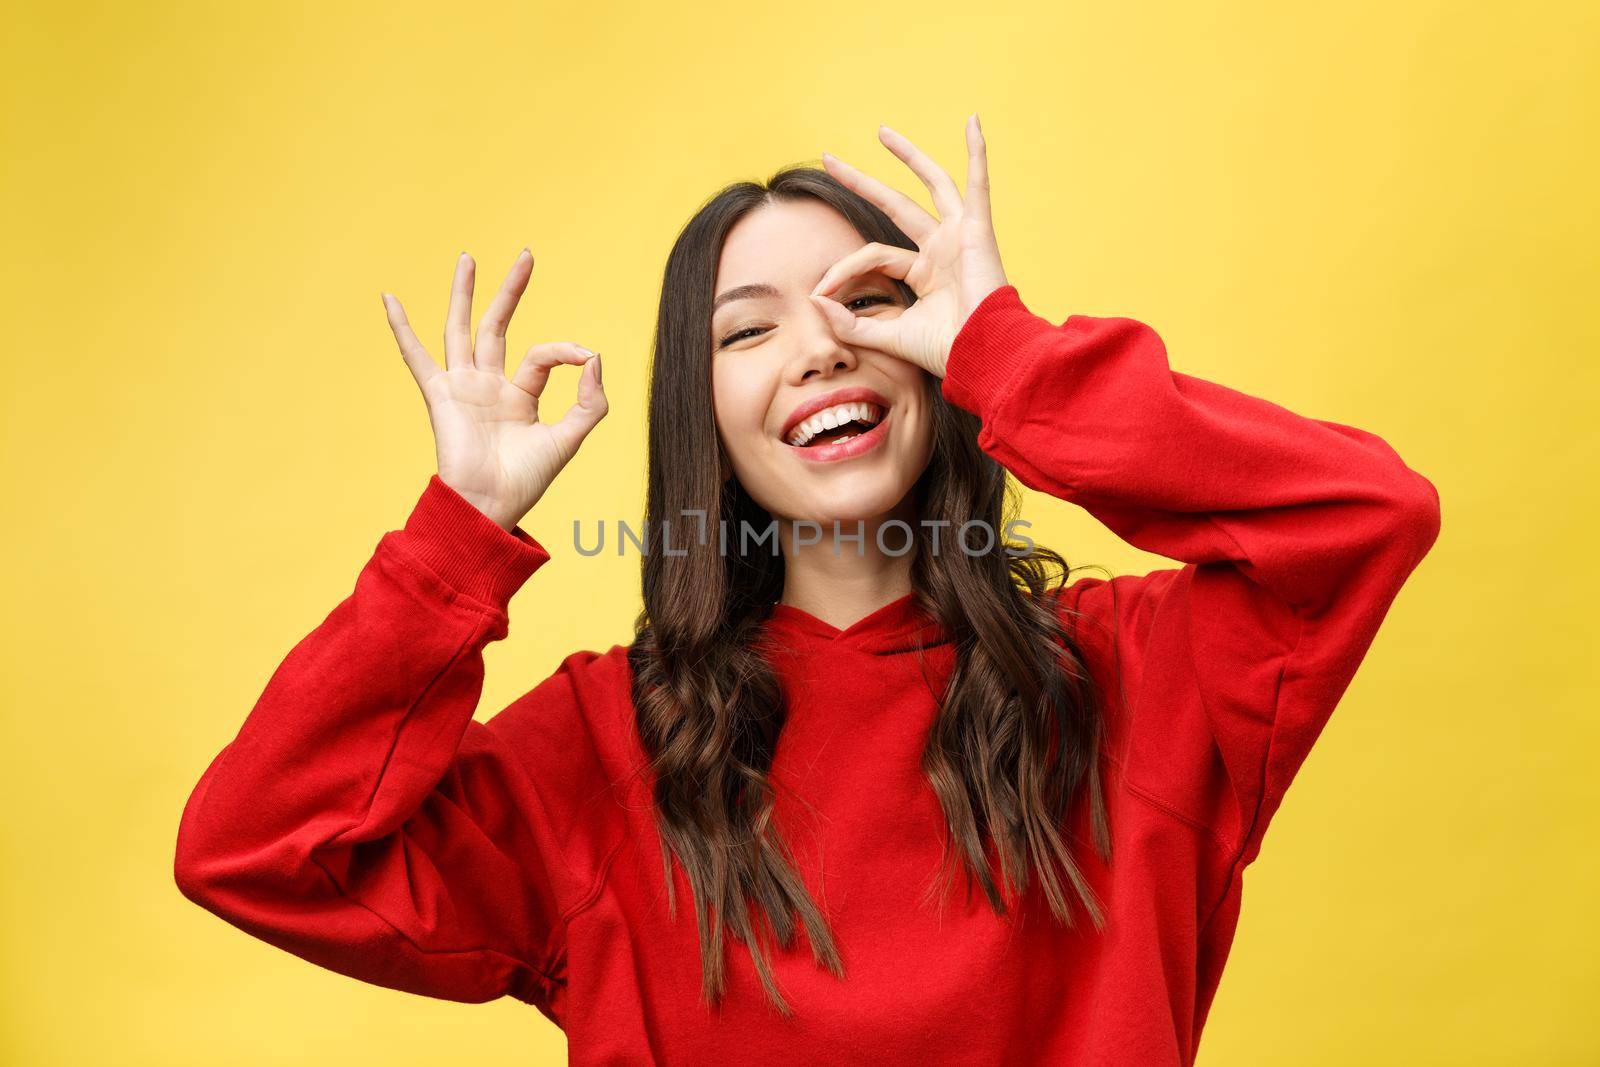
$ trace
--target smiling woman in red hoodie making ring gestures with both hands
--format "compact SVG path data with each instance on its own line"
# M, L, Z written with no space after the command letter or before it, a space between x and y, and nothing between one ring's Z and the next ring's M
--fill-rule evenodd
M1242 872L1438 498L1138 322L1029 312L976 115L965 192L880 136L938 218L824 157L685 227L635 640L486 723L483 648L549 560L518 522L605 416L602 357L506 378L526 251L475 339L461 258L443 370L386 298L438 474L195 787L186 896L536 1005L574 1064L1192 1062ZM1184 565L1064 584L1002 530L1006 470Z

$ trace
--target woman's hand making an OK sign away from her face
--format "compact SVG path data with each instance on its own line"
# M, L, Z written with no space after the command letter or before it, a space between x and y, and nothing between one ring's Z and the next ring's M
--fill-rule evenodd
M389 293L384 309L400 355L422 390L434 426L438 478L502 530L512 530L538 502L589 430L605 418L600 355L570 341L528 349L506 378L506 326L528 288L533 254L525 248L483 312L472 338L472 256L461 253L445 320L445 370L416 339L405 310ZM558 422L539 422L539 394L557 363L581 365L578 402Z

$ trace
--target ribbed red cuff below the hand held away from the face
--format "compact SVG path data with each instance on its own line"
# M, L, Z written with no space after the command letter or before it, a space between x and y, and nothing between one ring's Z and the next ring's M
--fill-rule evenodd
M502 530L437 474L394 536L446 585L501 611L550 558L522 526Z

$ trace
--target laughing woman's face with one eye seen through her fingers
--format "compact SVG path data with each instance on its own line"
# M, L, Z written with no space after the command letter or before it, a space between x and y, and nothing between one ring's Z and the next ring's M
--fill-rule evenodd
M750 211L728 232L712 310L717 432L744 490L776 518L880 518L933 454L928 374L875 349L843 344L808 294L866 242L819 200ZM834 299L856 315L899 315L882 274Z

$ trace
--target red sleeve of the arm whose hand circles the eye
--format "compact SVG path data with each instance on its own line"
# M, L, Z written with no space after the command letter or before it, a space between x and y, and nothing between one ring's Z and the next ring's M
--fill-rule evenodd
M963 325L942 390L1024 485L1184 563L1080 577L1061 606L1120 664L1126 781L1248 864L1438 536L1432 483L1373 434L1173 371L1142 323L1058 326L1014 286Z

